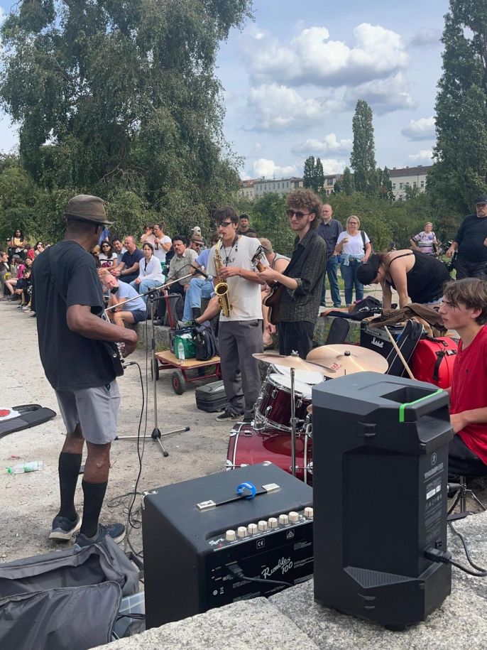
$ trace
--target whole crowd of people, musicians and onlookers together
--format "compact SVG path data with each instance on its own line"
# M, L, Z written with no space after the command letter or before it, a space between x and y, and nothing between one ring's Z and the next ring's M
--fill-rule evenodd
M170 238L161 224L147 224L141 237L128 235L122 241L109 237L102 199L79 195L68 205L60 244L46 251L42 242L29 246L20 230L13 234L0 254L2 289L37 315L40 358L67 429L59 460L60 510L51 538L68 539L80 530L77 543L87 546L107 534L116 541L124 536L123 524L98 521L120 401L111 355L101 354L99 341L119 342L130 354L137 335L126 325L146 320L146 292L164 285L184 299L180 325L218 316L229 403L217 416L219 422L251 422L261 388L253 354L263 351L266 339L272 342L277 333L280 354L307 356L324 303L325 276L334 308L341 305L338 268L346 305L352 304L354 291L361 300L363 284L380 283L385 307L395 288L400 307L413 300L438 308L445 325L460 337L449 389L457 434L450 448L451 469L461 473L468 466L487 473L487 354L482 352L487 345L487 195L476 199L476 214L464 219L447 251L457 254L456 281L449 281L447 266L437 258L432 224L411 238L412 249L373 252L356 215L344 229L333 219L332 207L307 189L293 190L286 202L295 235L290 258L274 251L270 240L258 239L248 216L232 207L214 211L214 232L207 240L197 226L188 241L181 234ZM223 291L217 294L219 287ZM277 330L263 305L263 298L276 290ZM111 322L98 318L107 306ZM84 442L88 456L80 517L74 494Z

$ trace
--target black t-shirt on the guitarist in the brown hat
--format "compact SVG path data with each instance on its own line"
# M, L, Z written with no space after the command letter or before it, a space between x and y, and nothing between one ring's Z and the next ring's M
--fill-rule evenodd
M33 301L40 360L54 389L92 388L115 379L111 360L100 343L72 332L66 322L67 308L72 305L88 305L92 313L102 313L102 285L92 255L70 241L38 255L33 264Z

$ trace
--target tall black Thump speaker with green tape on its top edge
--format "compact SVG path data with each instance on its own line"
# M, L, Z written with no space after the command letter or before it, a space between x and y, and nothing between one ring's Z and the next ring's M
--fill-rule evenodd
M361 372L313 386L314 598L390 629L449 595L449 399L431 384Z

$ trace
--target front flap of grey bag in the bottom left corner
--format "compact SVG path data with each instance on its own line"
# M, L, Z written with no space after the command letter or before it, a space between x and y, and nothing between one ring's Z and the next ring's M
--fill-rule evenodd
M0 599L0 647L88 650L111 641L120 585L60 587Z

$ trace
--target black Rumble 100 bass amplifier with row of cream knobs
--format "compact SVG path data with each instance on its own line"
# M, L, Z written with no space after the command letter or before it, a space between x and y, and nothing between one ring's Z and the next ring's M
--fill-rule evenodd
M308 580L312 520L312 488L269 462L146 493L146 627Z

